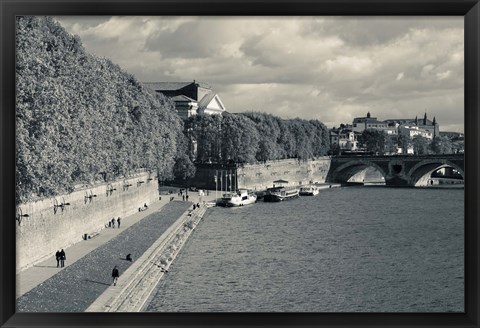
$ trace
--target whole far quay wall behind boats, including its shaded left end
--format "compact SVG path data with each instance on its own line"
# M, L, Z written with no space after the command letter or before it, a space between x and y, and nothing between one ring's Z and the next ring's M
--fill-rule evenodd
M259 191L272 187L275 180L286 180L288 185L296 186L325 183L330 162L330 157L320 157L308 161L296 159L267 161L261 164L245 164L236 168L215 164L199 165L195 178L190 180L189 184L199 189L247 188ZM215 175L217 175L216 184Z

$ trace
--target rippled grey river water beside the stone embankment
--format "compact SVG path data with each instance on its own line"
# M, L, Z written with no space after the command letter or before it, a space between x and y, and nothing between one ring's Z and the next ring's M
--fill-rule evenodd
M463 236L463 189L212 208L146 311L463 312Z

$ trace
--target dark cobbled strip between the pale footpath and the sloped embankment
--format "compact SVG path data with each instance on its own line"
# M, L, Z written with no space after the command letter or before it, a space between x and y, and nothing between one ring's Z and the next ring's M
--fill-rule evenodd
M111 284L115 265L122 273L139 258L189 207L190 202L171 202L125 229L117 237L17 299L17 312L83 312ZM107 228L108 229L108 228ZM88 242L88 241L87 241ZM68 261L68 249L67 249Z

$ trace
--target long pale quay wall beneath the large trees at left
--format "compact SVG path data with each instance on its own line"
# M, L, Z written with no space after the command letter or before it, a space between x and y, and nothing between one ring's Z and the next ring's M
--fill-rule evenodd
M114 182L84 186L70 194L19 205L21 213L28 217L17 215L17 273L82 241L85 235L95 235L108 227L113 217L138 212L139 207L158 197L158 179L138 172ZM70 205L62 207L66 203Z

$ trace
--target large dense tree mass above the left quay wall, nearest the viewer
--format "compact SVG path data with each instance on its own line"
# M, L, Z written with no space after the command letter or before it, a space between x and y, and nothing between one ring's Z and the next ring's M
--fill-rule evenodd
M17 203L138 168L172 177L186 141L170 100L51 18L18 17L16 32Z

